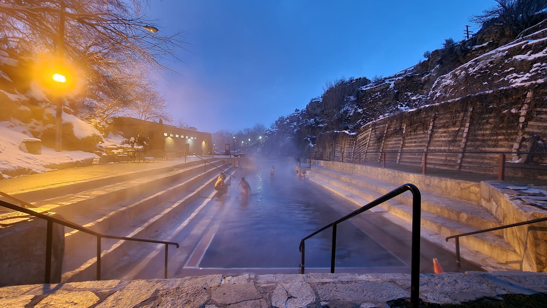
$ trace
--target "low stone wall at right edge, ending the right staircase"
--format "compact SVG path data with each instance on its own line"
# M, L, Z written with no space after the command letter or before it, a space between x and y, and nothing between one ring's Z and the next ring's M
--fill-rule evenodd
M547 211L525 204L505 189L494 186L497 181L483 181L481 204L490 210L503 225L547 217ZM547 223L516 226L503 230L503 237L522 256L521 269L547 272Z

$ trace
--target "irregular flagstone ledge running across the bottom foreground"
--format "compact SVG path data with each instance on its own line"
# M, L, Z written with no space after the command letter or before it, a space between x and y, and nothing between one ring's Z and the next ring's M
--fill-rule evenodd
M410 307L410 275L209 275L0 288L0 307ZM547 273L504 271L420 276L424 306L545 303ZM512 302L513 301L513 302ZM514 303L516 301L516 303ZM427 304L426 304L427 303Z

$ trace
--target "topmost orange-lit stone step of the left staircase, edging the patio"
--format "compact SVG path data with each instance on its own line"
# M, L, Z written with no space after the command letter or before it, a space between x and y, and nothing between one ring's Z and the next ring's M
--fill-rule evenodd
M205 158L208 161L217 161L215 158ZM165 162L165 161L164 161ZM171 162L171 161L168 161ZM158 162L150 163L141 163L133 164L130 163L130 166L135 166L131 171L120 172L116 174L104 173L102 176L77 179L70 181L70 178L59 179L55 184L46 184L42 187L32 187L30 189L21 189L11 193L12 195L18 197L19 199L25 200L27 202L34 202L44 199L51 199L56 196L66 195L66 194L76 194L89 189L96 189L103 187L105 185L131 181L132 179L161 175L163 173L168 173L176 169L187 168L195 165L203 165L202 160L190 160L188 162L174 162L173 164L164 166L158 164ZM106 164L108 165L108 164ZM146 168L142 167L146 166ZM101 165L102 167L102 165ZM108 170L108 169L105 169Z

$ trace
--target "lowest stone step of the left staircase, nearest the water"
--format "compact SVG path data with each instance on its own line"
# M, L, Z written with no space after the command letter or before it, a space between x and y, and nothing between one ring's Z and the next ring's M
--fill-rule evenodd
M116 234L118 236L126 237L137 237L140 239L155 239L156 231L158 231L161 226L165 225L170 219L176 217L181 213L184 208L194 202L202 194L205 194L206 191L214 188L214 183L217 179L217 173L210 175L209 178L206 178L198 184L199 186L195 189L192 189L191 193L184 196L181 200L176 202L166 202L166 207L160 208L161 212L155 211L155 215L152 217L145 217L148 213L143 213L142 217L137 217L134 219L136 228L127 230L126 234ZM150 210L153 211L154 209ZM113 230L114 232L114 230ZM119 231L118 231L119 232ZM103 241L106 241L103 239ZM126 254L131 254L133 249L135 249L141 242L135 241L115 241L109 240L110 242L114 241L112 245L108 245L109 248L103 250L101 253L101 268L107 270L110 266L115 266L121 258ZM155 244L150 243L154 246ZM101 247L102 249L104 246ZM95 246L94 246L95 249ZM81 266L72 271L67 271L63 273L61 281L63 282L74 282L74 281L89 281L96 279L96 255L85 261Z

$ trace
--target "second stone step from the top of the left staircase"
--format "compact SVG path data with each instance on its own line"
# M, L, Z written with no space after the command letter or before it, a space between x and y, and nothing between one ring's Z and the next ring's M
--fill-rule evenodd
M213 163L218 161L213 161ZM207 169L213 168L207 164ZM184 178L203 172L203 165L191 165L168 173L149 176L146 178L130 179L97 189L89 189L80 193L67 194L48 200L34 202L34 205L45 208L48 211L61 214L67 220L77 220L75 223L88 223L94 219L82 222L78 217L92 215L102 208L126 200L132 200L135 196L153 194L161 190L165 185L182 181ZM100 202L97 202L100 200Z

